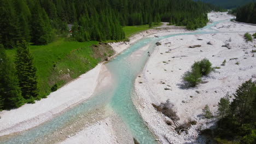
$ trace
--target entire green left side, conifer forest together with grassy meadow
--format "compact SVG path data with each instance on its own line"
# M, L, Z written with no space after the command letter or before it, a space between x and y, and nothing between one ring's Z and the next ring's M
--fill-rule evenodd
M112 56L91 45L125 39L124 26L196 29L210 10L222 9L192 0L0 0L0 110L45 98Z

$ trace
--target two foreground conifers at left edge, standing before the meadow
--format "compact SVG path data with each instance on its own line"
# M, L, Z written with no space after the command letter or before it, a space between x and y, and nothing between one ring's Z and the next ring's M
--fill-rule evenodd
M18 44L15 65L0 45L0 109L13 109L37 99L36 68L26 41Z

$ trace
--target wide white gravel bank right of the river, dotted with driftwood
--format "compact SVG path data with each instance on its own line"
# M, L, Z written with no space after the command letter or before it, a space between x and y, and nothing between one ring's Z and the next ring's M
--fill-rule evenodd
M255 26L243 25L229 21L232 16L226 13L209 13L212 21L225 20L206 31L216 34L181 35L162 39L161 45L154 52L135 81L135 97L133 103L150 130L158 136L160 143L205 143L197 129L206 128L206 119L202 117L202 109L208 104L212 113L217 111L220 98L229 92L235 92L242 82L256 80L256 59L252 50L256 49L256 41L246 42L243 35L247 31L256 31ZM220 32L220 33L219 33ZM161 33L159 33L161 34ZM208 45L208 42L212 45ZM222 45L229 44L229 48ZM194 49L189 46L201 45ZM216 69L209 76L203 77L206 83L195 88L182 89L182 76L195 61L208 58ZM226 59L225 66L221 66ZM237 64L238 63L238 64ZM181 120L189 118L197 121L188 134L178 135L165 121L167 117L157 112L152 104L160 104L170 99ZM211 119L208 127L216 122ZM167 141L168 140L168 141Z

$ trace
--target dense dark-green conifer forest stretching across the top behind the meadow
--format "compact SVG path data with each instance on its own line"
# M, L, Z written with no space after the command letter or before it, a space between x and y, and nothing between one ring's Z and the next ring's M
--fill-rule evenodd
M206 25L207 11L219 7L191 0L0 0L0 43L13 49L19 41L45 45L67 35L72 38L121 40L122 26L170 22L195 29Z

